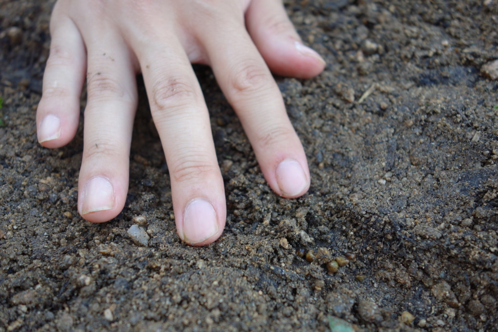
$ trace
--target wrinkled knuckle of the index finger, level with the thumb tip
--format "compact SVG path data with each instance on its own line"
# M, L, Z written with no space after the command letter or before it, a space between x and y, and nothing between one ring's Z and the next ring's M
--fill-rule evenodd
M271 82L268 69L253 61L247 61L241 69L235 71L232 86L236 94L251 94L263 90L268 82Z

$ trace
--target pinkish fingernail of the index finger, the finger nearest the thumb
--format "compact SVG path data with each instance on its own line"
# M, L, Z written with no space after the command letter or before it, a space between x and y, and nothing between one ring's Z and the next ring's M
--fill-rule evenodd
M296 196L308 186L308 180L301 165L294 159L285 159L276 170L278 187L285 196Z

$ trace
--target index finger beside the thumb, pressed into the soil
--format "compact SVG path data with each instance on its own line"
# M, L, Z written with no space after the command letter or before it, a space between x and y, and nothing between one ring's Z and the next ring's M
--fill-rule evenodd
M310 179L303 147L244 26L231 31L201 38L215 76L241 119L270 187L283 197L299 197L308 190Z

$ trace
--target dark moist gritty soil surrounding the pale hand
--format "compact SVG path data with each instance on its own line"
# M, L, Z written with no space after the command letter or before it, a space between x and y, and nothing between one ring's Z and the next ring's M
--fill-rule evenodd
M334 317L346 331L497 331L498 84L484 65L498 58L498 1L288 2L328 63L277 78L311 188L270 190L196 67L228 217L193 248L176 235L143 85L124 211L80 218L82 128L57 150L35 133L52 1L0 0L0 331L328 331Z

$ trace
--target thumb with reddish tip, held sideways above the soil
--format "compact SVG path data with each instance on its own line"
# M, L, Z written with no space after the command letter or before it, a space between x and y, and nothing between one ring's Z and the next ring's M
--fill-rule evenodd
M246 19L252 40L275 74L311 78L325 68L323 58L302 43L281 0L252 0Z

